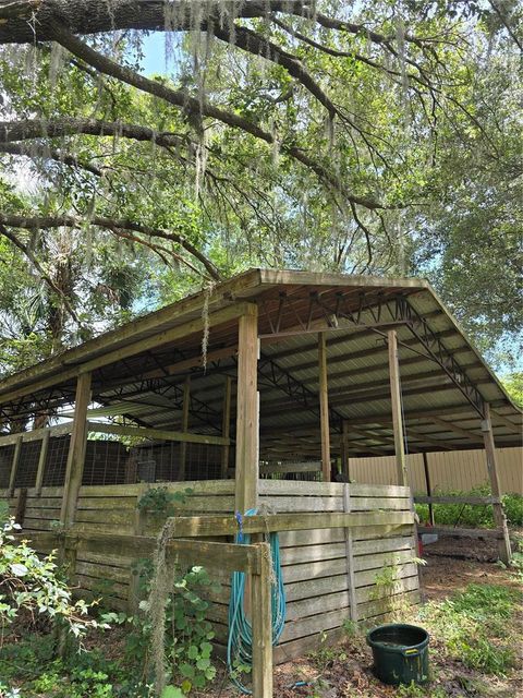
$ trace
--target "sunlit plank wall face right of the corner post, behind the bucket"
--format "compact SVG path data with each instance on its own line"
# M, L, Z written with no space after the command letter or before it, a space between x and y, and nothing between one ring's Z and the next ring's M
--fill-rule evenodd
M275 513L343 512L342 483L263 480L262 505ZM409 512L409 489L351 484L353 512ZM340 628L350 618L350 594L344 529L280 533L287 593L287 623L275 660L308 651L317 634ZM375 526L353 529L354 577L360 619L382 615L404 598L419 600L416 565L412 562L412 526L387 530ZM393 567L394 581L376 586L382 569Z

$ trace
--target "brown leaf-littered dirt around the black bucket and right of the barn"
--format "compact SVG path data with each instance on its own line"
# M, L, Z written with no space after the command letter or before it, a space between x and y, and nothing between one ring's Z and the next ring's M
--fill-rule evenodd
M452 544L452 543L451 543ZM496 543L494 543L495 545ZM447 542L425 549L427 565L422 568L423 601L442 600L471 583L515 587L514 578L491 562L495 556L490 541L469 541L466 547L454 547L458 554L472 559L449 557ZM434 552L433 552L434 551ZM415 622L415 619L414 619ZM523 610L520 609L523 630ZM523 698L523 652L520 647L519 669L509 677L485 676L459 662L431 657L435 681L419 693L408 693L378 682L373 674L373 658L364 636L344 640L336 648L321 648L308 657L293 660L275 670L275 698L386 698L392 696L449 696ZM416 690L416 689L414 689ZM231 688L221 670L212 689L205 698L233 698L240 691Z

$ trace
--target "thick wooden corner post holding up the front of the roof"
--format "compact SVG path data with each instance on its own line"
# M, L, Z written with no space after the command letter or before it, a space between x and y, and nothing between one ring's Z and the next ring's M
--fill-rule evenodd
M238 337L235 508L246 512L258 498L258 308L242 315Z

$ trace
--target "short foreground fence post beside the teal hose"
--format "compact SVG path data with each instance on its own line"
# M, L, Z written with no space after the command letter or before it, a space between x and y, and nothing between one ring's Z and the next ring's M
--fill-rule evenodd
M259 574L251 575L253 624L253 698L272 698L272 621L270 549L258 543Z

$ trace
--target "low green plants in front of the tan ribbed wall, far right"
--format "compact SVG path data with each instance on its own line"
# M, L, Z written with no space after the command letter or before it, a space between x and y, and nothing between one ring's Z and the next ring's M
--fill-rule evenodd
M438 492L439 496L489 496L491 494L488 484L484 484L469 492L451 490ZM436 493L435 493L436 496ZM508 493L502 497L507 522L512 527L523 526L523 496ZM492 507L490 505L472 504L435 504L434 517L436 524L454 526L457 521L463 528L495 528ZM428 521L428 504L416 504L419 520Z

